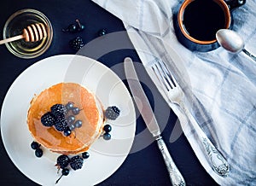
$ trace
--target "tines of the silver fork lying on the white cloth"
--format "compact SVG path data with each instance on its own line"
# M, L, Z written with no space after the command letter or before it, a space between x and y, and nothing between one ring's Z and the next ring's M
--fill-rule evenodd
M175 83L175 79L172 77L172 73L169 71L164 61L155 62L152 66L152 69L161 84L166 87L167 91L177 86Z

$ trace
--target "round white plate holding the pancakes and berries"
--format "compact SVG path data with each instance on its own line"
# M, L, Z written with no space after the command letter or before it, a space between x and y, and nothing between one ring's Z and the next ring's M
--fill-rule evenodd
M70 171L58 185L95 185L101 183L124 162L135 136L136 115L129 91L108 67L79 55L56 55L38 61L16 78L3 102L1 132L3 144L26 177L42 185L55 185L61 175L55 167L56 157L44 149L37 158L30 147L33 141L26 125L26 114L34 94L53 84L74 82L96 93L103 107L116 105L121 113L111 122L112 139L98 139L90 148L90 158L81 170Z

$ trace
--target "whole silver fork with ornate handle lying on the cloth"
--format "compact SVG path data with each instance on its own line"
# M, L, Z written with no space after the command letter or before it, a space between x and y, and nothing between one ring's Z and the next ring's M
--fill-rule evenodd
M166 64L163 61L157 61L151 67L155 76L160 81L160 84L164 87L163 89L166 90L165 92L170 102L175 103L182 108L183 112L190 120L191 125L197 132L199 142L204 149L204 153L206 154L207 160L210 162L213 171L218 173L221 177L227 177L230 172L230 165L218 149L214 147L207 135L201 130L200 125L198 125L194 116L189 112L189 109L186 108L183 103L183 97L185 96L184 92L177 84L176 79L173 77L168 67L166 67Z

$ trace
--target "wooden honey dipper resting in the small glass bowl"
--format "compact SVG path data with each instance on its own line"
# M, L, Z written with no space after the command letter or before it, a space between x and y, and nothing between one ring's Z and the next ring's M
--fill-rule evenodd
M23 29L23 33L19 36L1 40L0 44L6 44L21 38L24 38L26 42L36 42L42 40L45 37L47 37L47 32L44 24L36 23L30 26L26 26L26 28Z

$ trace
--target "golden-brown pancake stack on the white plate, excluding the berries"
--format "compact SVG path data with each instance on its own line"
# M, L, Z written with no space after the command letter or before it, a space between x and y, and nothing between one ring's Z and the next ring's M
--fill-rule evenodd
M66 105L67 102L73 102L74 107L80 109L75 118L82 120L83 124L65 137L54 126L44 126L41 117L53 105ZM90 148L102 132L103 120L102 106L96 96L74 83L55 84L42 91L32 99L27 113L27 125L35 141L60 154L79 154Z

